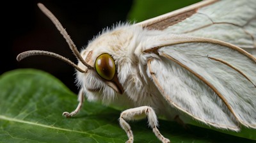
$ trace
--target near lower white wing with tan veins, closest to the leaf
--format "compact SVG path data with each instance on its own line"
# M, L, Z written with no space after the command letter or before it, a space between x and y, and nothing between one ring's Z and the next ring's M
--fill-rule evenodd
M204 38L148 52L159 55L148 59L148 76L171 105L216 128L256 128L255 57L229 43Z

